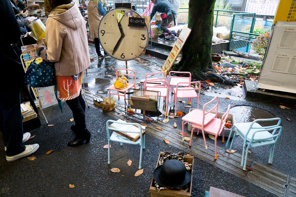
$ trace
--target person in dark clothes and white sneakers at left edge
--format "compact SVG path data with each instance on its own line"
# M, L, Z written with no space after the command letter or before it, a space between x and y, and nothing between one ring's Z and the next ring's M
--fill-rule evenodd
M0 29L0 58L5 60L1 67L2 86L0 93L0 131L6 149L6 160L13 161L31 155L38 144L24 145L23 116L20 107L20 88L24 84L25 71L11 44L16 43L20 30L9 0L0 1L0 12L6 28ZM9 30L9 32L7 32ZM4 78L3 78L4 77Z

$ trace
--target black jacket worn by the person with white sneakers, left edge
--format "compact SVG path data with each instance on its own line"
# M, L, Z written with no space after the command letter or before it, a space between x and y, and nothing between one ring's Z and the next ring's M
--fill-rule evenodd
M24 84L25 71L11 44L18 42L21 33L9 0L0 1L0 12L5 13L2 16L5 28L0 28L0 58L5 61L1 66L2 88L19 88Z

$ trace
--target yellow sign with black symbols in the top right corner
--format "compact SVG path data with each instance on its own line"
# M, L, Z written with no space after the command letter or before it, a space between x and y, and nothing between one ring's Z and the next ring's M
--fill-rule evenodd
M273 25L277 21L296 21L296 0L280 0L278 9L273 19Z

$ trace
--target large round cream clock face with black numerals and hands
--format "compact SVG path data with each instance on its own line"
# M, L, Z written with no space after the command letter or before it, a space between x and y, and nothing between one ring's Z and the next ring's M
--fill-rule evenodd
M129 15L126 16L128 12ZM142 18L134 10L116 8L107 12L99 25L98 34L103 49L118 60L126 61L138 57L148 44L147 26L128 26L130 16ZM117 18L121 18L119 22Z

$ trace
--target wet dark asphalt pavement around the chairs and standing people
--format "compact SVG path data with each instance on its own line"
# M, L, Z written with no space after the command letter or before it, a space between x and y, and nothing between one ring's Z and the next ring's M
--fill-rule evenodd
M88 73L84 75L84 87L92 93L108 97L108 92L105 89L115 82L115 70L116 68L125 68L125 62L113 58L97 60L94 45L90 44L89 46L90 56L95 61L88 68ZM145 78L148 72L157 72L161 65L161 63L153 62L155 59L153 57L148 56L146 58L150 58L149 61L138 59L138 61L128 62L128 68L136 71L136 82ZM107 75L113 75L113 77ZM219 94L218 96L220 96L219 111L226 111L229 103L231 107L257 107L282 119L282 135L275 148L273 164L270 166L295 176L296 140L291 137L295 134L294 104L291 103L290 106L286 106L291 109L282 109L278 107L280 103L263 103L255 100L248 102L240 100L237 96L235 97L238 99L226 99L223 98L224 95ZM212 95L203 92L200 96L199 108L202 108L212 98ZM124 104L122 97L115 100ZM197 108L196 103L196 99L193 99L192 106L194 108ZM188 112L189 109L185 108L185 105L187 104L177 102L178 111ZM172 94L169 96L169 106L173 109ZM173 143L171 145L165 144L159 138L147 134L146 149L143 151L142 157L144 173L134 177L139 164L139 146L124 144L121 147L119 143L111 142L112 163L107 165L108 150L103 148L107 144L105 123L108 119L116 118L106 115L96 108L87 108L86 119L88 128L92 132L92 139L89 144L68 147L67 142L74 138L70 129L72 123L68 122L72 118L68 106L64 104L63 114L57 106L44 110L44 113L49 123L55 124L55 126L45 127L44 119L40 118L42 126L31 132L31 135L36 136L26 144L39 143L40 148L34 154L36 160L29 161L27 158L23 158L7 162L4 156L5 151L3 149L0 151L2 154L2 159L0 159L0 196L149 196L149 186L159 152L179 152L182 150L173 146ZM291 122L286 118L290 118ZM174 121L178 128L182 128L181 118L170 120L167 127L172 127ZM227 140L227 137L225 139ZM198 143L200 140L203 141L201 134L198 136L195 134L194 142ZM206 136L206 140L207 142L212 141L208 136ZM217 142L218 145L225 146L225 143L221 143L221 137ZM233 145L233 149L240 153L242 150L241 143L242 140L237 137ZM2 140L0 140L0 147L3 147ZM54 152L46 155L45 153L49 150L54 150ZM268 162L268 150L268 147L250 149L252 153L249 154L248 158L266 164ZM130 167L126 164L129 159L133 161ZM110 169L113 167L119 168L121 172L111 172ZM195 157L192 196L204 196L204 192L208 191L210 186L245 196L278 196L251 182ZM69 188L69 184L74 184L75 188Z

